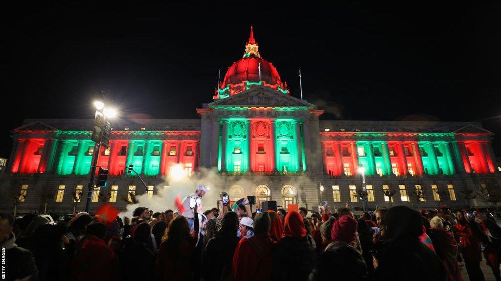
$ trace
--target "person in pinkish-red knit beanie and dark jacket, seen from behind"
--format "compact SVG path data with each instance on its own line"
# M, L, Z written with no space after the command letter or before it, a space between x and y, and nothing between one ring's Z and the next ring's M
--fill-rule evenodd
M362 253L353 246L357 227L357 221L350 215L343 215L333 222L332 242L317 259L310 281L330 280L332 272L336 272L336 279L339 280L361 281L367 278L367 266Z

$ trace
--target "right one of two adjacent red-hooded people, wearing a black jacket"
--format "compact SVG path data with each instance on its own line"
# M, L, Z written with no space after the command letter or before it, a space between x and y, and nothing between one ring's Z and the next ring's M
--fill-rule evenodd
M305 223L297 211L285 217L284 233L273 250L272 280L306 280L317 257L313 237L307 234Z

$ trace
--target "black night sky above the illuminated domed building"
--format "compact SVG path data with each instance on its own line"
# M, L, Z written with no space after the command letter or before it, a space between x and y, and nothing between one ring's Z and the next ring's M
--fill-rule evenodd
M93 118L95 98L122 117L198 118L251 24L296 97L301 68L323 119L481 121L501 155L499 2L187 2L3 4L0 157L23 119Z

